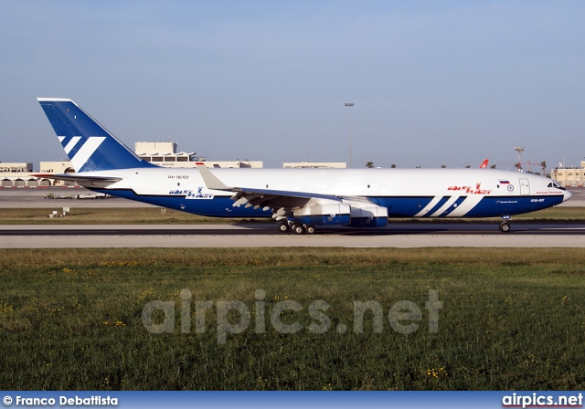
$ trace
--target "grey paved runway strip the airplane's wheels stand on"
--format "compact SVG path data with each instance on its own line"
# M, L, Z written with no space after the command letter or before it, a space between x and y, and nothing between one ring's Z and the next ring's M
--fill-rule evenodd
M585 225L395 224L294 235L275 225L3 225L1 248L83 247L585 247Z

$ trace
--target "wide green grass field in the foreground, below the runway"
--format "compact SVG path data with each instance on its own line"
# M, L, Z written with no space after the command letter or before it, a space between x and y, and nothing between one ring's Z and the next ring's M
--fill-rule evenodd
M582 390L583 260L585 249L560 248L0 250L0 384L6 390ZM184 289L190 299L181 298ZM429 331L425 309L430 290L442 302L437 332ZM175 303L173 333L145 329L143 309L153 300ZM251 320L221 344L217 307L229 300L241 301ZM324 333L310 330L326 321L310 315L315 300L330 305ZM400 300L420 309L420 320L399 321L419 325L409 334L388 322ZM181 304L187 301L190 314ZM203 327L197 301L212 303ZM282 301L303 309L279 313ZM354 301L381 306L381 332L369 312L363 333L355 332ZM298 322L302 330L275 330L275 310L282 323ZM229 325L241 323L236 311L225 317ZM153 319L162 324L165 316L159 310ZM340 323L345 333L336 330Z

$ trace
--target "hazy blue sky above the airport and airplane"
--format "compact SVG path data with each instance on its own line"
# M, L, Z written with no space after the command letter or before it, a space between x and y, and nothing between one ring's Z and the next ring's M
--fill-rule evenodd
M60 160L37 97L215 160L511 168L585 156L582 1L0 4L0 161ZM348 109L346 102L355 106Z

